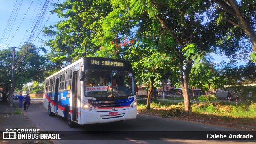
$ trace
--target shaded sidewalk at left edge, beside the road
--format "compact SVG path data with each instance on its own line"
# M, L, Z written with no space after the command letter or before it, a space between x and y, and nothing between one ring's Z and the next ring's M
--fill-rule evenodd
M17 100L13 100L14 107L7 102L0 101L0 144L53 144L50 140L4 140L3 132L6 129L36 129L22 113L23 107L19 108Z

